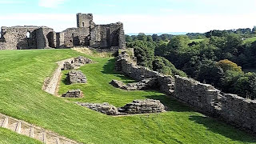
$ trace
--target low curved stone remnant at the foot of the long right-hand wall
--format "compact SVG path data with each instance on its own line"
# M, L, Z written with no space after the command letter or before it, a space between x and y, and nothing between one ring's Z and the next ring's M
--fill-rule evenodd
M149 90L158 85L156 78L146 78L140 82L124 84L118 80L112 80L110 84L122 90Z

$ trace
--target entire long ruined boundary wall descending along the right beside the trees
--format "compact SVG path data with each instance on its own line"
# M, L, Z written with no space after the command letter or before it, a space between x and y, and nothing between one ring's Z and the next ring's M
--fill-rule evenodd
M256 101L239 97L236 94L225 94L209 84L203 84L192 78L161 75L142 66L136 66L126 53L119 54L116 70L122 71L130 78L142 80L157 78L155 89L170 94L178 101L194 107L196 110L221 118L234 126L256 133Z

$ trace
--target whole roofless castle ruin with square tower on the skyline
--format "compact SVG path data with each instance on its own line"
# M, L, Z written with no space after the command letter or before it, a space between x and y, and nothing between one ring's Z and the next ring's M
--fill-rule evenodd
M96 49L126 47L122 22L96 25L93 14L77 14L77 27L55 32L46 26L12 26L1 28L0 50L71 48L87 46Z

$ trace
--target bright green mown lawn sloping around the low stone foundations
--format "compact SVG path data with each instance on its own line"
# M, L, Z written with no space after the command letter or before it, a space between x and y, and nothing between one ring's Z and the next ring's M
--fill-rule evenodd
M83 143L256 142L252 135L194 112L164 94L156 91L128 92L110 86L112 79L133 81L113 71L113 58L92 58L98 63L82 66L80 70L86 74L87 84L69 86L65 81L61 83L60 94L79 88L84 91L85 98L57 98L44 92L42 82L54 71L55 62L78 55L83 54L72 50L0 51L0 112ZM159 99L170 110L162 114L111 117L71 102L109 102L123 106L138 98ZM1 132L0 129L0 135ZM3 133L6 137L0 138L16 137L16 134L5 130ZM33 142L22 138L22 141L9 143Z

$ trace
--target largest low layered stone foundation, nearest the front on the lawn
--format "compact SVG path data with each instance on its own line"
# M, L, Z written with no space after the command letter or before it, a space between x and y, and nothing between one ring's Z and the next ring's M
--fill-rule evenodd
M118 111L126 114L161 113L165 111L165 106L154 99L134 100L119 108Z

